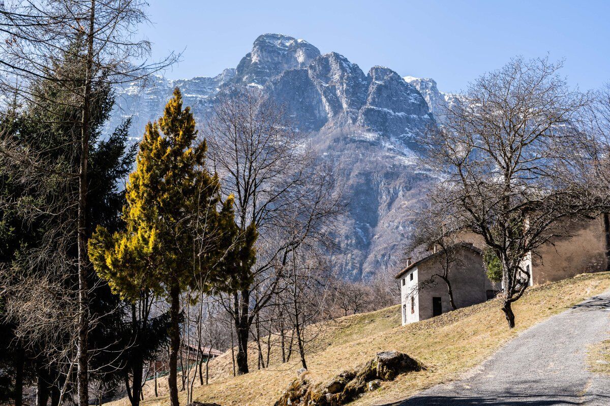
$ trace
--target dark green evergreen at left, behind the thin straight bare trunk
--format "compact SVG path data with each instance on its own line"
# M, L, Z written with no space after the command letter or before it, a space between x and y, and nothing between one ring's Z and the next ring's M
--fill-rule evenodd
M71 61L78 58L74 49L66 50L63 55L66 69L71 69ZM60 66L54 70L59 72ZM36 164L48 168L43 176L32 177L31 172L37 171L24 170L27 161L7 155L4 150L0 154L0 296L5 299L3 302L12 302L15 309L22 298L13 295L12 289L23 285L24 281L40 284L43 276L53 282L51 286L64 288L45 295L45 298L53 298L61 310L45 329L40 329L50 332L51 337L31 326L23 326L14 314L10 315L11 320L2 317L5 303L0 304L0 336L5 338L0 339L0 368L11 371L7 379L0 379L0 391L9 394L15 405L21 404L23 385L32 382L37 382L40 394L37 402L46 404L50 396L51 405L57 405L59 387L65 383L67 368L54 359L57 352L70 355L76 330L72 323L76 312L73 286L77 284L74 275L77 247L72 225L77 217L73 198L78 184L70 174L75 173L78 166L71 140L77 136L75 131L79 129L74 127L74 122L78 121L81 112L79 107L65 102L70 99L70 91L65 89L68 85L40 79L34 84L38 96L23 107L13 103L0 116L3 146L10 145L23 150L25 155L35 155ZM112 111L113 93L107 84L94 86L92 91L95 97L90 105L91 125L87 137L90 142L87 238L98 225L110 233L124 227L121 219L125 201L123 182L132 170L137 147L127 148L129 119L112 134L102 133ZM125 365L133 359L133 352L129 350L134 342L140 344L138 349L145 357L152 357L151 354L165 343L168 316L151 321L151 331L140 334L140 329L131 323L131 303L121 302L119 296L110 292L109 285L91 272L90 266L87 279L90 287L87 304L91 317L96 320L90 326L88 342L89 362L93 366L91 378L103 385L115 386L123 379ZM20 290L28 289L21 287ZM44 316L48 303L40 299L38 304L40 315L23 316ZM67 307L60 307L62 304ZM24 335L26 338L22 339ZM129 350L125 351L126 348ZM72 384L68 382L68 385Z

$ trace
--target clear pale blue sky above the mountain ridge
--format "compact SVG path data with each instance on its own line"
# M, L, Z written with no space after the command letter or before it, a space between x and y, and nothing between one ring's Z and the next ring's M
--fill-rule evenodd
M171 79L235 67L261 33L303 38L365 72L383 65L457 92L515 55L565 58L581 89L610 82L610 1L151 0L156 58L184 51Z

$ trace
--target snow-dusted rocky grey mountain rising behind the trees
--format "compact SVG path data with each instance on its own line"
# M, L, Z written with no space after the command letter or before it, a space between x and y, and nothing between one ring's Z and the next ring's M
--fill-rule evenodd
M340 247L334 264L346 279L367 279L401 265L412 231L410 211L434 181L418 166L417 137L436 125L435 114L455 98L440 93L434 80L407 78L384 66L365 74L336 52L322 55L307 41L265 34L237 68L215 77L155 77L145 89L118 89L109 127L132 115L132 135L139 139L146 122L162 113L174 86L182 89L200 123L222 89L262 89L336 165L350 206L334 230Z

